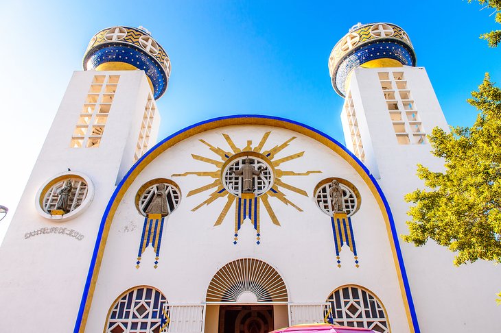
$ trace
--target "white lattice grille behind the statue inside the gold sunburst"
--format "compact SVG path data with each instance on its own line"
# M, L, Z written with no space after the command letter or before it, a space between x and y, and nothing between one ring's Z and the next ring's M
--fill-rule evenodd
M235 175L231 171L235 172L240 170L245 164L246 159L250 160L250 165L254 167L255 170L261 171L260 175L253 175L253 186L255 188L255 195L259 196L266 193L273 185L273 174L270 166L263 160L255 157L243 157L235 160L233 163L229 164L224 170L223 182L224 188L229 191L229 193L239 196L240 190L243 186L243 177L240 175Z

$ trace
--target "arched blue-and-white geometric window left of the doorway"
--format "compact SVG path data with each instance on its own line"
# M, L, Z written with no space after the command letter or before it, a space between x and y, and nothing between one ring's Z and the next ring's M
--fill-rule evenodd
M163 305L167 299L151 287L139 287L119 297L106 322L106 333L159 333L167 326Z

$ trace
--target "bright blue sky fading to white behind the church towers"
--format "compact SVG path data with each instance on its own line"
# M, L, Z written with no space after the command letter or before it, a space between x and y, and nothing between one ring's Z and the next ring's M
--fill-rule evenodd
M158 101L159 139L228 114L272 114L344 142L342 98L327 60L358 23L403 27L450 125L471 125L465 99L489 71L501 82L501 48L478 36L499 29L492 10L467 1L0 1L0 240L73 71L96 32L143 25L172 61ZM15 163L12 163L15 161Z

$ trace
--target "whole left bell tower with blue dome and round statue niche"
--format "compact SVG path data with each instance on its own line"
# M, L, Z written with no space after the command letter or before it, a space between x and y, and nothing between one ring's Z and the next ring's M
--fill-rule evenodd
M170 60L143 27L92 37L0 249L0 330L71 332L115 186L156 143ZM21 283L22 281L22 283ZM41 308L50 307L47 310ZM19 310L30 324L19 323ZM10 313L12 312L12 315ZM23 326L26 325L26 326Z

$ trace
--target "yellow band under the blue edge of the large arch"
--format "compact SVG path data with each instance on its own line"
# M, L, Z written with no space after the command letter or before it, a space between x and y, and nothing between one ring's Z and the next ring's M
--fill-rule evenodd
M201 123L198 126L190 127L187 130L183 131L182 133L170 138L170 140L165 140L159 147L156 147L156 149L149 151L143 158L143 160L140 160L138 164L135 165L135 168L130 171L128 174L128 177L124 180L124 183L121 185L119 188L119 192L115 196L115 200L110 206L110 209L108 211L108 215L106 216L106 220L104 221L104 228L103 228L103 233L102 233L102 238L101 242L99 245L99 249L97 251L97 258L95 260L95 266L93 268L93 274L91 278L91 284L89 286L89 293L87 294L87 299L85 302L85 307L84 307L84 313L82 315L82 323L80 324L80 333L84 333L85 331L85 326L86 326L86 321L89 317L89 310L91 309L91 304L92 304L92 299L94 296L94 291L95 291L95 286L97 283L97 278L99 277L100 273L100 268L102 264L102 259L104 255L104 249L106 247L106 241L108 240L108 234L110 232L110 227L111 223L113 222L113 217L115 216L115 212L117 211L117 208L120 204L121 199L124 197L126 194L128 188L132 184L132 182L135 181L136 177L145 169L150 162L152 162L155 158L157 158L161 153L169 149L170 147L176 145L177 143L180 143L181 141L194 136L196 134L200 134L202 132L207 132L209 130L214 130L215 128L219 127L225 127L225 126L233 126L233 125L264 125L264 126L272 126L272 127L279 127L279 128L285 128L287 130L292 130L294 132L297 132L299 134L303 134L305 136L308 136L319 143L325 145L326 147L329 147L332 151L336 152L338 156L343 158L348 162L348 164L353 167L353 169L362 177L362 180L364 180L366 186L368 186L369 190L371 190L371 193L373 194L375 200L377 201L378 206L380 207L382 217L384 219L385 225L386 225L386 232L388 234L388 240L390 240L390 246L391 246L391 251L393 254L393 262L395 264L395 271L397 273L397 277L399 280L399 286L400 286L400 293L402 297L402 301L404 303L404 307L406 310L406 317L408 321L408 326L409 326L409 331L411 333L414 333L414 325L412 325L412 317L410 314L410 307L408 304L408 297L406 294L406 289L404 286L404 280L401 275L400 267L399 267L399 260L397 257L397 249L395 248L395 243L393 241L393 235L391 232L391 224L390 224L390 217L388 216L388 212L386 212L386 208L384 206L384 201L380 195L380 193L377 191L377 188L373 184L373 181L371 180L371 177L366 173L366 171L358 164L358 162L352 158L347 151L342 149L340 145L337 145L333 141L331 141L329 138L322 136L321 134L318 134L317 132L314 132L313 130L310 130L307 127L304 127L303 125L297 124L297 123L290 123L288 121L283 121L281 119L272 119L272 118L261 118L261 117L254 117L254 116L240 116L240 117L231 117L231 118L223 118L223 119L215 119L213 121L209 121L207 123ZM264 199L264 195L261 196ZM266 205L265 205L266 206ZM398 241L398 240L396 240Z

